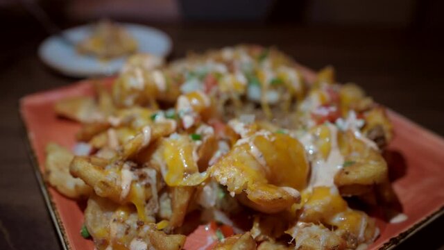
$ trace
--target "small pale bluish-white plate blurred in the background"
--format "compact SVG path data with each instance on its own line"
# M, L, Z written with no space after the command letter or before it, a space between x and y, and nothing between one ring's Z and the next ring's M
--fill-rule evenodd
M137 24L121 24L137 40L137 52L151 53L155 56L167 56L171 51L172 42L169 36L148 26ZM78 26L63 31L73 42L87 38L93 25ZM67 76L88 77L115 74L122 67L125 58L103 61L94 56L77 53L73 45L67 44L57 36L46 38L40 44L39 56L46 65Z

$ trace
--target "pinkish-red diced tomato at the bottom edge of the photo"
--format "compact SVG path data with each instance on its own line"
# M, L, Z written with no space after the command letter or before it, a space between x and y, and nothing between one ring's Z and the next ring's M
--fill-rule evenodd
M219 242L216 231L220 230L225 238L234 234L231 226L217 226L216 222L207 225L198 226L196 230L188 235L185 241L184 249L202 249L210 250Z

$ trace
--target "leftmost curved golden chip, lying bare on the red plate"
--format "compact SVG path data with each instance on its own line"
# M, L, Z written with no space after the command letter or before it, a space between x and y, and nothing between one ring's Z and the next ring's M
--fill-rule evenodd
M69 198L80 199L91 193L89 185L69 174L73 153L55 143L46 145L46 180Z

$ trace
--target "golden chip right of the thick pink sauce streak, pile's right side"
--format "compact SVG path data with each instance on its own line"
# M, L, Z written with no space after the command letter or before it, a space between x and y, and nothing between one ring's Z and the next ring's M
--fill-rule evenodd
M352 131L339 135L339 147L345 156L345 162L350 163L334 176L334 183L339 190L343 191L349 185L374 185L388 178L384 158L364 141L356 138Z

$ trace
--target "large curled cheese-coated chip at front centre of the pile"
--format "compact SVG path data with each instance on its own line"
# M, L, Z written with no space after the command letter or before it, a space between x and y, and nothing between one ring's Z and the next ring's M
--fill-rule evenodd
M259 135L234 146L210 169L211 176L239 200L263 213L278 213L300 200L307 160L299 142L288 135ZM244 139L242 139L244 140Z

